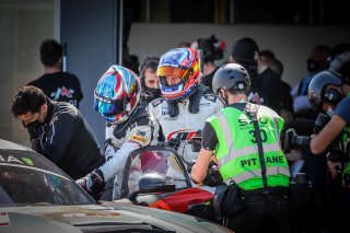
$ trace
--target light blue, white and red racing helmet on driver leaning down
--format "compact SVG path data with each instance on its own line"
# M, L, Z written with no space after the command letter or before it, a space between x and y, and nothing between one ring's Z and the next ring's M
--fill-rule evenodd
M112 66L94 91L94 110L108 123L125 121L140 101L141 83L128 68Z

